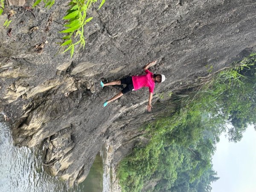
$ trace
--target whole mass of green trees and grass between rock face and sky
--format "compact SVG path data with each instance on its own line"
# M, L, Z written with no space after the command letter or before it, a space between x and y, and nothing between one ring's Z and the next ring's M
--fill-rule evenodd
M211 160L220 134L237 142L248 124L256 125L255 64L251 54L200 79L189 96L173 96L176 112L147 125L149 143L136 145L119 163L122 191L211 191L218 180Z

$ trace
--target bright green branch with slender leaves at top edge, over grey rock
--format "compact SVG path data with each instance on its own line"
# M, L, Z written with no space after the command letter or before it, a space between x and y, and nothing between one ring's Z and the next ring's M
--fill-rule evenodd
M37 0L33 7L37 6L42 0ZM96 3L97 0L72 0L70 2L71 8L67 11L67 15L63 17L64 20L67 20L67 23L64 24L67 29L62 30L60 33L66 33L66 35L62 38L64 43L61 44L61 47L67 47L62 53L70 51L70 57L72 58L76 45L80 45L81 47L85 46L85 38L84 38L84 25L90 22L93 17L87 18L86 12L90 8L93 3ZM44 0L45 7L51 7L54 4L54 0ZM100 9L105 0L102 0L99 5ZM79 38L77 38L79 37Z

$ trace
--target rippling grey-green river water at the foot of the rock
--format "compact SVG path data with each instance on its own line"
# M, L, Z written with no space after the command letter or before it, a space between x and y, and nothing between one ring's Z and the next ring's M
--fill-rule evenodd
M87 178L68 188L49 176L42 166L41 151L13 145L10 128L0 122L0 192L110 192L110 173L101 149Z

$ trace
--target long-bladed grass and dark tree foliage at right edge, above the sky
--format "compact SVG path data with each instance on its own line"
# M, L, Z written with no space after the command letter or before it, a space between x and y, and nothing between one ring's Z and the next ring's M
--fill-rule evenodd
M229 139L238 142L248 124L255 125L255 63L249 56L212 76L194 95L190 105L199 105L209 113L210 120L222 130L228 131ZM227 127L231 125L231 128Z

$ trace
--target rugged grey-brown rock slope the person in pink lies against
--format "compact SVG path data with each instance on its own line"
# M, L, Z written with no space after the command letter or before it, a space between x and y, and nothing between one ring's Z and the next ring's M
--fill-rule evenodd
M214 72L256 50L255 0L107 0L88 13L94 18L84 32L86 47L70 59L57 44L68 2L10 6L16 14L7 29L7 9L0 16L0 111L15 143L44 143L44 164L70 185L84 180L106 140L113 166L135 141L146 143L138 128L163 110L145 111L146 88L103 108L121 86L102 89L101 79L139 75L157 59L151 70L167 80L155 93L168 93L207 75L206 66Z

